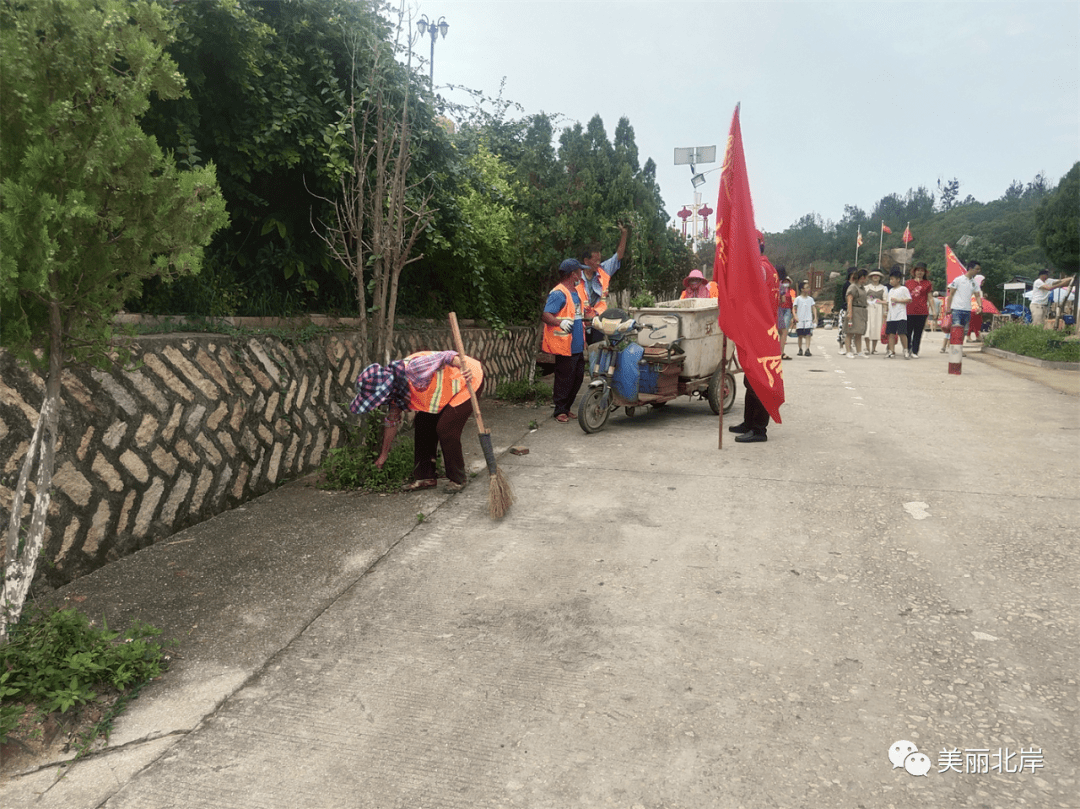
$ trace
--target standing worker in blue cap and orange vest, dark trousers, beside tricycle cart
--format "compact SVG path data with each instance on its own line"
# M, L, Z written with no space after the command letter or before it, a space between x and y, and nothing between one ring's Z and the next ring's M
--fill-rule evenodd
M558 266L558 284L548 294L543 314L541 350L555 356L555 379L551 397L555 420L565 424L577 416L573 400L585 378L585 327L582 321L581 270L583 264L567 258Z

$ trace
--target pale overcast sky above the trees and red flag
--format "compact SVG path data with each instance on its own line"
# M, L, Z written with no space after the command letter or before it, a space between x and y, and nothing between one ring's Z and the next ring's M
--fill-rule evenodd
M1001 197L1080 160L1080 3L424 0L445 16L435 85L608 137L634 127L669 215L693 202L675 147L718 147L735 104L758 227L837 220L888 193L957 177L961 199ZM430 40L416 50L427 64ZM716 167L700 166L700 170ZM700 191L716 206L719 172ZM903 223L891 223L891 227Z

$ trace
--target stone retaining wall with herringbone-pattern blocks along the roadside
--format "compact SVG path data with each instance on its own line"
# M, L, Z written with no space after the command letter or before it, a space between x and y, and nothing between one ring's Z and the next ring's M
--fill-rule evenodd
M527 376L535 328L463 328L495 382ZM449 348L449 329L395 334L396 356ZM53 497L36 588L110 561L313 471L340 446L363 363L355 333L140 337L134 367L64 374ZM43 379L0 351L0 525L44 395ZM29 513L30 504L25 507ZM2 543L0 543L2 553Z

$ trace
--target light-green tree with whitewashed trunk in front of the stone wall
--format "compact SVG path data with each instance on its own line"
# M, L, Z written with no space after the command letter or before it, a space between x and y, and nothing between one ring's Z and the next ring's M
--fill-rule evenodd
M166 13L145 1L0 0L0 339L48 360L9 521L0 639L41 551L65 365L107 364L124 300L148 279L198 272L228 220L214 167L179 171L139 127L151 93L184 87L168 39Z

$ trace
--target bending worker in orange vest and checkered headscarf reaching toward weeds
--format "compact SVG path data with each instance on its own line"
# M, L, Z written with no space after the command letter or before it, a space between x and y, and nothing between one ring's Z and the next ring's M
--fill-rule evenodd
M356 378L356 397L349 409L367 413L388 405L383 418L382 451L375 466L382 469L390 447L401 428L405 410L415 410L416 435L413 448L413 475L405 491L433 489L438 485L435 453L443 450L443 464L450 482L448 491L460 491L469 483L461 432L472 414L469 388L480 394L484 369L478 361L457 351L418 351L389 365L368 365Z

